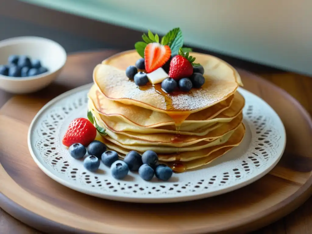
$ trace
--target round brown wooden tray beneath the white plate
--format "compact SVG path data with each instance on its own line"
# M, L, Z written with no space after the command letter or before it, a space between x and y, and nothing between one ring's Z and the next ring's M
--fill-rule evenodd
M66 90L92 82L97 63L115 51L68 57L59 79L41 92L14 96L0 110L0 206L43 232L212 233L246 232L300 206L311 194L312 121L301 105L271 83L238 70L247 90L280 115L287 145L278 165L244 188L175 204L131 204L91 197L47 177L27 147L28 126L38 110Z

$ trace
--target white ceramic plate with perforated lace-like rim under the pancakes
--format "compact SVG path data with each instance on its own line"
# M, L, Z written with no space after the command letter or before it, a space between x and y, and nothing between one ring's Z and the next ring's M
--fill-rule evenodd
M243 110L246 135L242 143L212 163L174 173L167 182L146 182L130 172L116 180L101 163L96 173L82 160L72 158L62 145L69 123L87 116L91 84L68 91L47 103L35 116L28 132L28 147L41 170L62 185L111 200L125 202L182 202L212 197L250 184L268 173L285 149L284 126L275 111L261 98L239 88L246 99Z

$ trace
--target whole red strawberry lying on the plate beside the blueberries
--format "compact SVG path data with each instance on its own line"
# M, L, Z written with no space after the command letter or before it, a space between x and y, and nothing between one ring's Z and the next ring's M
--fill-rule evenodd
M63 145L70 147L72 144L80 143L88 146L95 139L96 128L85 118L77 118L71 121L63 137Z

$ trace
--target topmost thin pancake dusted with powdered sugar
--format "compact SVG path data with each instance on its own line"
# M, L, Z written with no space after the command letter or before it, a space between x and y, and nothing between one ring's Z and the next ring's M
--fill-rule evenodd
M226 62L210 55L200 53L191 55L196 56L197 61L205 68L206 82L201 88L192 89L188 93L165 94L160 84L138 88L125 76L124 71L138 59L135 51L125 51L114 56L115 59L109 58L103 61L103 64L97 65L93 71L93 80L99 90L111 100L157 110L168 115L185 116L227 99L235 93L239 85L242 85L237 71ZM117 65L122 66L123 70L117 69Z

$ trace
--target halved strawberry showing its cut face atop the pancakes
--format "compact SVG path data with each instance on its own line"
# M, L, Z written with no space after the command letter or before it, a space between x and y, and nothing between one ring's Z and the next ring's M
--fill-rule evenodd
M145 70L147 73L162 67L170 58L169 46L163 46L157 42L149 43L144 49Z

